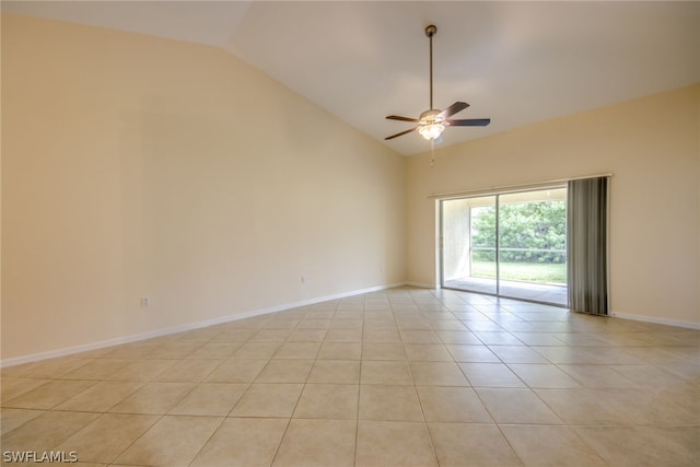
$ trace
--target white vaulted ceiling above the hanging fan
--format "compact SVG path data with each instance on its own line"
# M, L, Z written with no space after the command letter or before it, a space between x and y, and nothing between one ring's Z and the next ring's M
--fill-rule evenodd
M471 106L454 144L700 82L700 2L2 1L44 16L217 46L376 140L410 128L390 114ZM270 108L270 112L275 112ZM660 118L663 118L660 115ZM385 142L410 155L417 132Z

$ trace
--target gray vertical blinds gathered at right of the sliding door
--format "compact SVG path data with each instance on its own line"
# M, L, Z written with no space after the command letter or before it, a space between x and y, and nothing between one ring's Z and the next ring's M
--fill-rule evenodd
M569 307L608 314L608 177L569 182Z

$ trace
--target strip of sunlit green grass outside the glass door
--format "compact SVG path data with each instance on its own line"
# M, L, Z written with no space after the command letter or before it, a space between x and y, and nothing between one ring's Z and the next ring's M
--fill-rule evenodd
M567 265L556 262L501 262L501 279L567 284ZM474 261L471 276L495 278L495 262Z

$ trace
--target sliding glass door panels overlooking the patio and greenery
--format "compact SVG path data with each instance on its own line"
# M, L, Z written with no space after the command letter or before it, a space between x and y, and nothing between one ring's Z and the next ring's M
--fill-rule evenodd
M441 201L442 287L567 305L567 189Z

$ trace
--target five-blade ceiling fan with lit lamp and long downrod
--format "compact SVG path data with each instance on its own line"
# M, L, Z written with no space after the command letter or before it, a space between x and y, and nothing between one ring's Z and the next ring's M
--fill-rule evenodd
M430 39L430 109L420 114L419 118L399 117L398 115L389 115L386 117L389 120L410 121L417 124L417 126L409 130L386 137L384 138L385 140L390 140L418 130L423 138L433 141L440 138L447 127L486 127L491 122L490 118L471 118L467 120L451 119L450 117L469 106L466 102L455 102L444 110L433 108L433 36L436 32L438 27L432 24L425 27L425 35Z

